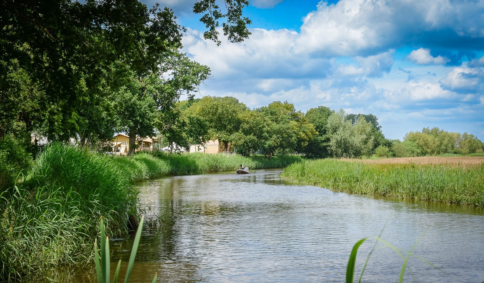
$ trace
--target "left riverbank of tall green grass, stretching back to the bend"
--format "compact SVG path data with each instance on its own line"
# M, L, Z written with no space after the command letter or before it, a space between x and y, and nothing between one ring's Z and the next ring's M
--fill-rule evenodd
M140 153L107 156L54 143L23 182L0 192L0 281L19 280L56 265L87 262L102 216L106 234L122 236L139 214L137 181L172 175L281 168L300 156ZM131 216L130 216L131 215Z

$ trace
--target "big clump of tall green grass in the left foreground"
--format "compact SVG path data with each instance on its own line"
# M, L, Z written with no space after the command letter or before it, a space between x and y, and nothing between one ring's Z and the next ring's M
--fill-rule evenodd
M125 233L136 212L132 180L112 157L47 146L25 181L0 193L0 281L88 260L100 216L109 235Z

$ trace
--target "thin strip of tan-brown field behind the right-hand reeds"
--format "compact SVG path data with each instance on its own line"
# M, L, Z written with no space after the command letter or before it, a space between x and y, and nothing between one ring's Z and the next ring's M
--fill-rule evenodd
M353 159L366 164L450 164L453 166L469 166L484 164L484 156L422 156L383 159Z

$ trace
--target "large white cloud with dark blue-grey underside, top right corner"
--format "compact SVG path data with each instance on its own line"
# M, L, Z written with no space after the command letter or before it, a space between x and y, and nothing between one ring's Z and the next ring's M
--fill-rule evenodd
M368 56L410 43L480 46L483 12L484 1L321 2L304 18L295 48L321 56Z

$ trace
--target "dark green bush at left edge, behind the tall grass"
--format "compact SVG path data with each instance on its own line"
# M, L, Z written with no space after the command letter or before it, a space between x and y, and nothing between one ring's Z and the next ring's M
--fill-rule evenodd
M25 142L10 135L0 140L0 190L13 186L17 175L27 173L32 164Z

